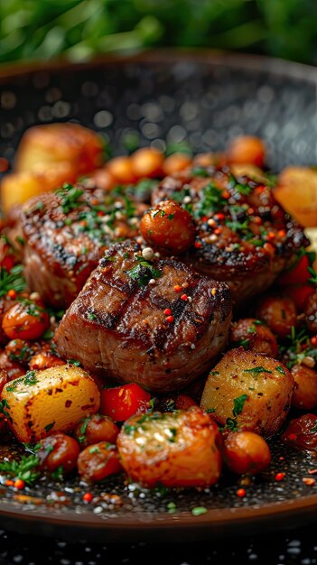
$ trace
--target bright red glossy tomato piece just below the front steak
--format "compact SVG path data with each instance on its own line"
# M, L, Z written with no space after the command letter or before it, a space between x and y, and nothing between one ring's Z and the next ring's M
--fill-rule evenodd
M125 421L137 412L145 412L150 400L151 394L135 383L104 388L100 391L99 412L112 420Z

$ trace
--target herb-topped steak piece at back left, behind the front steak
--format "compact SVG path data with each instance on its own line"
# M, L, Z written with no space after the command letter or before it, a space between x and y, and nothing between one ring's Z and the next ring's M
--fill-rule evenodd
M137 235L145 209L126 195L64 185L23 206L25 277L57 308L70 305L113 241Z

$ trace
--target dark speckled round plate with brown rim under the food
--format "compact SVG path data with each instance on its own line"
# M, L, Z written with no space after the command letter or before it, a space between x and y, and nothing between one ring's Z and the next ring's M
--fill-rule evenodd
M0 73L0 154L9 161L30 125L79 121L107 136L116 153L139 145L188 143L217 151L238 134L266 140L268 165L316 162L317 70L280 60L154 52L87 65L5 69ZM0 525L29 533L108 541L193 541L219 535L289 528L312 522L317 486L304 477L312 456L272 444L273 464L237 496L238 479L207 490L148 492L120 478L94 486L94 503L76 478L45 480L21 500L0 488ZM275 473L285 472L275 481ZM117 505L118 498L123 502ZM42 503L42 504L39 504ZM200 508L199 514L197 507ZM201 508L203 510L201 511ZM193 510L196 509L196 510ZM193 510L193 513L192 513Z

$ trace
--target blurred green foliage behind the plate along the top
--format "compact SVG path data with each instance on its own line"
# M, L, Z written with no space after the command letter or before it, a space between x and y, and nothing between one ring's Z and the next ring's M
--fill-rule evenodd
M317 0L0 0L0 61L211 47L316 64Z

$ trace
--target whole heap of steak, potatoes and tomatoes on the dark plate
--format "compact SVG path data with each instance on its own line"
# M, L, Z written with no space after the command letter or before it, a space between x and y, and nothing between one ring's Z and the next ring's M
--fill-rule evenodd
M209 487L265 471L277 432L316 448L317 172L265 156L246 136L103 164L80 125L24 134L2 183L1 433L25 450L5 486Z

